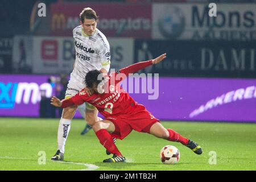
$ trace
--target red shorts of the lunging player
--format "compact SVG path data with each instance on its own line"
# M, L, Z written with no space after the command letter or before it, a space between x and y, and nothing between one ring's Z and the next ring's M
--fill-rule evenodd
M136 130L139 132L149 133L150 127L159 122L143 105L135 106L133 113L105 118L115 125L115 131L112 137L123 139Z

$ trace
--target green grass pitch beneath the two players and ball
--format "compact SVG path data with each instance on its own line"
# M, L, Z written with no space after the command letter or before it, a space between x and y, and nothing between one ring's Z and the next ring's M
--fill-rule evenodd
M256 170L256 124L162 123L199 143L203 154L196 155L180 143L133 131L125 139L117 140L117 147L127 163L105 164L102 160L108 156L93 130L80 135L85 122L73 119L65 147L65 162L53 162L59 119L0 118L0 170ZM175 165L160 162L159 151L168 144L179 148L180 160ZM214 162L210 151L216 152L216 164L209 164L209 161Z

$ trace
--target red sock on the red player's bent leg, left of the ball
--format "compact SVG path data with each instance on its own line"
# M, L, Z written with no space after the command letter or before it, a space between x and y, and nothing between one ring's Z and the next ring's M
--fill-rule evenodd
M100 143L102 144L102 146L106 148L106 150L108 150L112 154L122 156L117 146L115 146L113 138L111 137L111 135L108 133L106 129L98 130L95 134L100 140Z

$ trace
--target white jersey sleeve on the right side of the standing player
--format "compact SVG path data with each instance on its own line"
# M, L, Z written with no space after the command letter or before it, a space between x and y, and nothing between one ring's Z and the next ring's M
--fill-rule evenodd
M101 44L99 47L99 56L100 56L100 63L102 68L106 69L106 71L109 72L110 68L110 59L111 59L111 53L110 53L110 46L108 40L104 39L101 40Z

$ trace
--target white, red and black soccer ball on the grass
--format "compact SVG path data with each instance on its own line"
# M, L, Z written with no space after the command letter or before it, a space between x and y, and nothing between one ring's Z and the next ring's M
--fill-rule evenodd
M175 146L164 146L160 151L160 159L164 164L176 164L180 160L180 151Z

